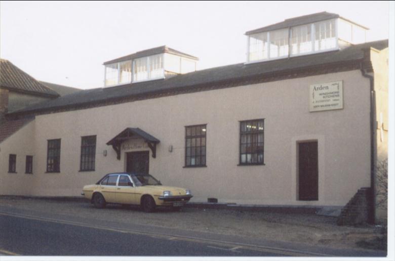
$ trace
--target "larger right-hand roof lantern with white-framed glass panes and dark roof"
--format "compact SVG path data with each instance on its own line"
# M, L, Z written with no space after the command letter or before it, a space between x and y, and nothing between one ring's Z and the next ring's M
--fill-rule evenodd
M338 14L316 13L246 32L247 62L336 51L366 42L369 28Z

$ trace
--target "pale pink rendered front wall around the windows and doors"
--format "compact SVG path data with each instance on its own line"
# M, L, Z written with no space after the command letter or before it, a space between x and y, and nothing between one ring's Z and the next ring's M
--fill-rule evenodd
M309 112L309 85L338 80L344 109ZM152 175L190 188L193 201L344 205L370 186L369 92L369 80L354 70L37 116L33 193L78 196L107 172L124 171L125 151L116 160L105 143L139 127L161 140L150 157ZM239 121L257 118L265 119L265 165L237 166ZM184 126L206 123L207 167L183 168ZM97 135L96 171L79 172L88 135ZM47 140L58 138L61 172L45 173ZM319 142L319 201L297 201L296 142L311 139Z

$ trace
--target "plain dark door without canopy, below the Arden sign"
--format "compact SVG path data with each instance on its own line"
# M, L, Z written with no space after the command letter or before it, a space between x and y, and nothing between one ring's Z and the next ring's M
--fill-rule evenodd
M299 153L299 200L318 200L318 142L301 142Z

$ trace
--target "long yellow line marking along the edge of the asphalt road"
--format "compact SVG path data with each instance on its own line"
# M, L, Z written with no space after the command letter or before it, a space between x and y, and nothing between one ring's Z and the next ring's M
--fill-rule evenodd
M46 221L46 222L52 222L52 223L57 223L57 224L73 225L73 226L100 229L100 230L106 230L106 231L112 231L112 232L144 235L144 236L150 236L150 237L154 237L154 238L161 238L161 239L168 239L168 240L188 241L188 242L213 244L213 245L217 245L217 246L228 247L225 250L244 248L244 249L249 249L249 250L254 250L254 251L278 253L278 254L292 255L292 256L331 256L331 255L327 255L327 254L314 253L314 252L308 252L308 251L300 251L300 250L288 250L288 249L277 248L277 247L259 246L259 245L244 244L244 243L234 243L234 242L221 241L221 240L178 236L178 235L170 235L170 234L159 234L159 233L154 233L154 232L146 232L146 231L138 231L138 230L117 229L117 228L110 228L110 227L105 227L105 226L101 226L101 225L90 225L90 224L75 222L75 221L42 218L40 216L17 214L17 213L11 213L11 212L6 212L6 211L0 211L0 215L9 215L9 216L15 216L17 218L24 218L24 219L30 219L30 220L36 220L36 221Z

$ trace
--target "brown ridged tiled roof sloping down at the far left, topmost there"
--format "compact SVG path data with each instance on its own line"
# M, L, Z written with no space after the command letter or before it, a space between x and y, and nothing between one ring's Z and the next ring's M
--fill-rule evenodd
M0 59L0 87L10 91L40 96L59 96L54 90L40 83L5 59Z

